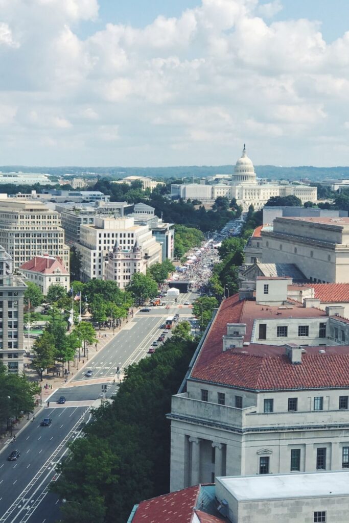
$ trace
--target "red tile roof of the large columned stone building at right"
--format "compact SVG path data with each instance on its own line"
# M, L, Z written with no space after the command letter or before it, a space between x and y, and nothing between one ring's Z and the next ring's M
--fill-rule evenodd
M189 379L209 381L252 390L317 389L349 386L349 346L307 347L300 365L292 365L285 348L251 344L223 352L227 323L245 323L244 342L250 342L255 319L327 317L325 311L292 302L291 309L257 305L235 294L224 300L212 322ZM345 323L348 320L336 317ZM285 340L286 341L286 340ZM247 354L242 354L242 352Z

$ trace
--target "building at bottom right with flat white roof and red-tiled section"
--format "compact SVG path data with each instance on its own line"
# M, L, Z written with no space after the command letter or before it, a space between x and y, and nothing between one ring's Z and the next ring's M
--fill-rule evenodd
M346 523L349 472L221 476L142 501L127 523Z

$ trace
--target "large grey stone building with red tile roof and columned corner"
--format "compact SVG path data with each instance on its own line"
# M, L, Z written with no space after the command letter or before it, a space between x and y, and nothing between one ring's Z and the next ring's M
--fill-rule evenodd
M224 300L172 398L171 490L349 468L349 320L260 277Z

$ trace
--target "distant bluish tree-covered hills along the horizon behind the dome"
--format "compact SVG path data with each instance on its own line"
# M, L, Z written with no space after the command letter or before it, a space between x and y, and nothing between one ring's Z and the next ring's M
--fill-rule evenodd
M28 167L25 165L0 166L3 173L25 172L25 173L47 173L52 176L70 174L74 176L100 176L112 178L124 178L125 176L150 176L154 178L203 178L214 174L230 174L234 170L233 165L190 165L174 167ZM349 167L280 167L275 165L256 165L255 170L260 178L271 178L274 180L288 179L299 180L308 178L313 181L325 178L349 178Z

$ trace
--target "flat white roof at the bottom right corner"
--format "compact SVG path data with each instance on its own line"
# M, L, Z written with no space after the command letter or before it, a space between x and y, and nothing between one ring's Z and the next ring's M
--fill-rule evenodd
M349 472L217 477L238 501L349 495Z

